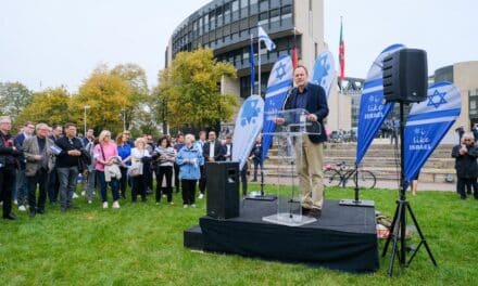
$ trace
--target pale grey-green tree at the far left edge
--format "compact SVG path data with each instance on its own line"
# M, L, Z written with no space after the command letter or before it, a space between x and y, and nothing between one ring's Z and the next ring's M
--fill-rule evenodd
M0 113L14 120L28 105L33 92L20 82L0 82Z

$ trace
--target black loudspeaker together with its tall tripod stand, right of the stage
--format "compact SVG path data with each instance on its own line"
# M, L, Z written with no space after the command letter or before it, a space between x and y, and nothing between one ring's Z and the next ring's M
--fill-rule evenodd
M418 221L412 210L410 203L406 200L406 182L404 173L404 104L414 102L423 102L427 99L428 89L428 67L427 53L424 50L417 49L402 49L383 60L382 67L383 79L383 99L386 102L400 103L400 198L397 200L397 209L393 216L390 235L383 247L382 257L386 256L390 243L392 243L392 253L390 257L390 264L388 275L391 276L393 272L393 263L395 256L399 257L401 266L407 266L412 263L413 258L422 247L425 246L431 262L437 265L437 262L431 253L427 240L418 225ZM413 249L412 257L406 261L406 213L410 213L413 223L420 236L420 243Z

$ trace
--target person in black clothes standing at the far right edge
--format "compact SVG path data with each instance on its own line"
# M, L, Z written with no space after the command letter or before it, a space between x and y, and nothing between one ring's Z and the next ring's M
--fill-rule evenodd
M478 199L478 148L475 146L473 133L465 133L462 136L462 144L458 144L452 150L452 157L455 158L456 177L456 192L462 199L466 199L465 186L470 190L473 186L475 198Z

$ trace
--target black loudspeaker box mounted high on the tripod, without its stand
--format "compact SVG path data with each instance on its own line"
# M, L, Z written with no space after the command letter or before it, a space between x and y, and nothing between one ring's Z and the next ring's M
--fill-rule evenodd
M383 99L386 102L423 102L427 99L427 52L402 49L383 60Z

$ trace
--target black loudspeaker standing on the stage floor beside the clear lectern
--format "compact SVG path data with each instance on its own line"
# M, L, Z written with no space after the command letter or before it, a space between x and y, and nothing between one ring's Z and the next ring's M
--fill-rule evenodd
M206 162L206 212L215 219L239 217L239 162Z

